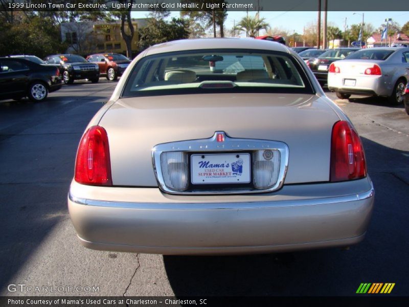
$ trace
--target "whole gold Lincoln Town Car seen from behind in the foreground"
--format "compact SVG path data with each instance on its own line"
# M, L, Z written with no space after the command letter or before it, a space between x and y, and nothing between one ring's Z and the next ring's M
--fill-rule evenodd
M350 246L373 201L358 134L304 61L239 38L139 54L86 127L68 196L85 247L158 254Z

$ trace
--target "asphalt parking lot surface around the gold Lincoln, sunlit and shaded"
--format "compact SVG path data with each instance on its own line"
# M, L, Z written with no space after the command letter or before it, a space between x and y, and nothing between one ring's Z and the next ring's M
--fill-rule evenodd
M409 294L409 116L382 99L328 93L362 138L376 190L358 246L225 257L83 248L66 195L83 130L116 84L75 82L43 103L0 102L0 295L351 296L361 282L394 282L393 295ZM9 284L64 290L10 292ZM67 288L78 286L98 291Z

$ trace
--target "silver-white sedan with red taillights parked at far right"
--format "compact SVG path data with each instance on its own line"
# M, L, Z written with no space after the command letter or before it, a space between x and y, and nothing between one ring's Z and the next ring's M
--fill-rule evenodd
M328 88L340 99L353 94L388 97L403 102L409 80L409 48L368 48L331 64Z

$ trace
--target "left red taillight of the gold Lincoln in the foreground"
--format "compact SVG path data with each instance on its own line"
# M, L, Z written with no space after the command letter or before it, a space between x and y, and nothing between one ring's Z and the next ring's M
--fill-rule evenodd
M78 146L75 181L88 185L111 186L108 135L100 126L90 127Z

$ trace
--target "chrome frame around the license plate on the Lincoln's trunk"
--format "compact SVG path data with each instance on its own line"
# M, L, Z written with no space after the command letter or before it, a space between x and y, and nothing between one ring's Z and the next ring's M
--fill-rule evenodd
M224 141L217 142L217 136L222 135ZM226 189L196 189L186 191L175 191L165 185L162 174L161 154L166 151L183 151L183 152L240 152L255 151L262 149L276 149L280 152L280 170L277 183L268 189L243 188L235 190ZM236 139L228 137L224 131L216 131L211 138L198 139L189 141L178 141L171 143L158 144L152 148L152 164L156 180L160 189L170 194L248 194L264 193L280 189L284 184L285 175L288 167L289 149L287 144L278 141L257 140L257 139ZM216 187L216 185L215 185Z

